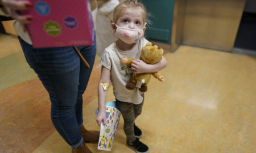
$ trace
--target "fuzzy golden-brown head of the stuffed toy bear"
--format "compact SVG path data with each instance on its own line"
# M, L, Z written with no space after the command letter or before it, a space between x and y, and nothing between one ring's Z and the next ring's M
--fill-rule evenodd
M148 42L141 51L141 59L145 63L154 64L162 59L163 49L158 49L156 45L152 46L151 42Z

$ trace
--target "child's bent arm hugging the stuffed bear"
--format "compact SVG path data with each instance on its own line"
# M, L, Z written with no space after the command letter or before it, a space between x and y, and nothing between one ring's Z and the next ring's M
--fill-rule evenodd
M133 73L156 73L166 66L167 61L164 57L155 64L147 64L139 59L131 61L131 70L133 70Z

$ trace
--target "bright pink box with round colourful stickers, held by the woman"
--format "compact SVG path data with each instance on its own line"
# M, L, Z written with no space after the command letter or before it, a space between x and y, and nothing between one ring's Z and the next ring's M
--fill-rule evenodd
M22 0L20 0L22 1ZM27 24L34 48L92 45L94 25L88 0L30 0Z

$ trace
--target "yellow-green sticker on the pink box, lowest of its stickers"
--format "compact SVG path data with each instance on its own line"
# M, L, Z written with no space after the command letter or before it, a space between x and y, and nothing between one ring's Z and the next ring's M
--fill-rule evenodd
M48 35L57 36L61 32L61 27L57 22L49 21L44 24L44 31L46 31Z

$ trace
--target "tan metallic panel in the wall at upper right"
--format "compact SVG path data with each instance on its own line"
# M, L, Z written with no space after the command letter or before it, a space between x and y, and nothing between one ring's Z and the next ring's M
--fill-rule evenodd
M231 52L245 0L187 0L183 44Z

